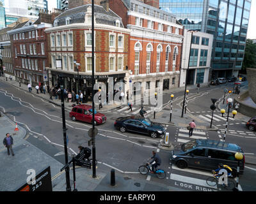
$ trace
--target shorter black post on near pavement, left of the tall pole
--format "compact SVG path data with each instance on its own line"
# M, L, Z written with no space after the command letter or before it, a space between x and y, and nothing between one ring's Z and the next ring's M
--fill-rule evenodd
M63 126L63 140L64 140L64 150L65 150L65 164L68 163L68 150L67 150L67 128L65 120L65 106L64 106L64 86L63 86L63 77L61 77L61 113L62 113L62 126ZM66 191L71 191L70 187L70 177L69 177L69 167L65 168L66 171Z

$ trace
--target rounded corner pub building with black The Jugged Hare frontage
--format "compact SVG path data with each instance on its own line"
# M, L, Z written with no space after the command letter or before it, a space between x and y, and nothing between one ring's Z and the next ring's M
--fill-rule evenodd
M103 82L106 92L110 91L109 77L113 77L114 86L116 82L127 82L125 86L129 86L130 31L124 28L122 18L111 11L108 4L95 4L94 15L95 83ZM66 89L82 91L86 101L91 101L92 4L64 11L45 33L49 59L47 69L52 87L59 87L60 76L64 77ZM124 92L125 89L127 87L122 87Z

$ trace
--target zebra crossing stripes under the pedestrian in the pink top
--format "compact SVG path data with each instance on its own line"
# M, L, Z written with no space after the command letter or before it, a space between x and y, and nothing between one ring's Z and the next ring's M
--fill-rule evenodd
M186 143L194 139L204 139L209 138L208 133L201 131L199 129L194 129L192 136L189 138L189 130L186 128L179 128L175 134L175 142Z

